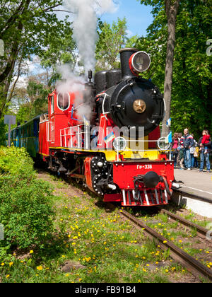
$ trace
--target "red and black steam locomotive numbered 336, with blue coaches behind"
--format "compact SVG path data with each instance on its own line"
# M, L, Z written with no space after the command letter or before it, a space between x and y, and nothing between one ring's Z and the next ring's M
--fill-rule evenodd
M174 163L160 138L163 95L139 75L151 64L146 52L126 48L119 53L121 69L99 71L94 82L89 71L83 91L55 90L48 113L13 129L11 139L42 157L49 170L83 182L104 202L167 204Z

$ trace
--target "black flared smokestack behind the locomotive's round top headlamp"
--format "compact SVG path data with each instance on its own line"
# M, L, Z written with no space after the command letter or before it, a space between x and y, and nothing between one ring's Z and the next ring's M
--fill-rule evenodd
M126 48L126 49L119 50L119 54L121 58L122 78L124 79L135 76L131 72L131 69L129 68L129 59L131 55L135 54L136 52L139 52L139 50L136 50L134 48Z

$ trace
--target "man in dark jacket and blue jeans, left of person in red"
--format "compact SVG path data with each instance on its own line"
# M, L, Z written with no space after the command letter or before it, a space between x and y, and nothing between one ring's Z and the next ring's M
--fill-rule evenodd
M194 138L189 134L189 130L184 129L184 135L179 140L181 148L184 150L184 165L188 170L191 170L191 154L190 148L194 146Z

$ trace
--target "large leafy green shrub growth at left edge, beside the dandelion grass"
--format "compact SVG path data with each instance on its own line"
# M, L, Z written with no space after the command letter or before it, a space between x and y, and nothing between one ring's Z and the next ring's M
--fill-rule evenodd
M24 148L0 148L0 248L43 248L53 233L52 188L37 180Z

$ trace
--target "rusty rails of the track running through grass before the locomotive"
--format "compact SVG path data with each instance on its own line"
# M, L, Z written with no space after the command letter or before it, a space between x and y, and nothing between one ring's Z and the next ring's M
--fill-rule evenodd
M164 211L164 213L171 216L171 213L169 213L169 211L165 211L165 210L163 210L163 211ZM122 209L120 211L120 213L122 214L122 216L126 217L127 219L132 221L134 224L136 224L136 226L139 226L139 228L141 228L144 231L144 233L146 233L148 236L150 236L151 238L155 238L158 241L158 243L160 243L160 247L163 248L163 250L169 249L170 257L172 257L173 260L182 264L183 267L186 267L187 270L189 272L191 272L194 276L196 276L198 278L202 277L202 278L208 279L208 281L212 282L212 271L210 269L208 269L208 267L204 266L204 264L201 264L201 262L194 259L194 257L189 255L187 252L184 252L182 249L178 248L177 245L172 243L170 240L165 238L163 235L160 235L158 232L153 230L151 227L146 226L146 224L143 223L140 219L136 219L135 216L132 216L124 209ZM189 226L189 223L191 223L191 222L184 220L181 217L178 217L173 214L172 214L172 218L176 219L177 221L179 221L179 219L181 219L181 221L184 224L187 224L187 226ZM205 228L197 226L194 223L191 223L190 226L192 226L194 228L194 225L195 225L196 229L198 228L198 232L201 235L205 231L207 231Z

